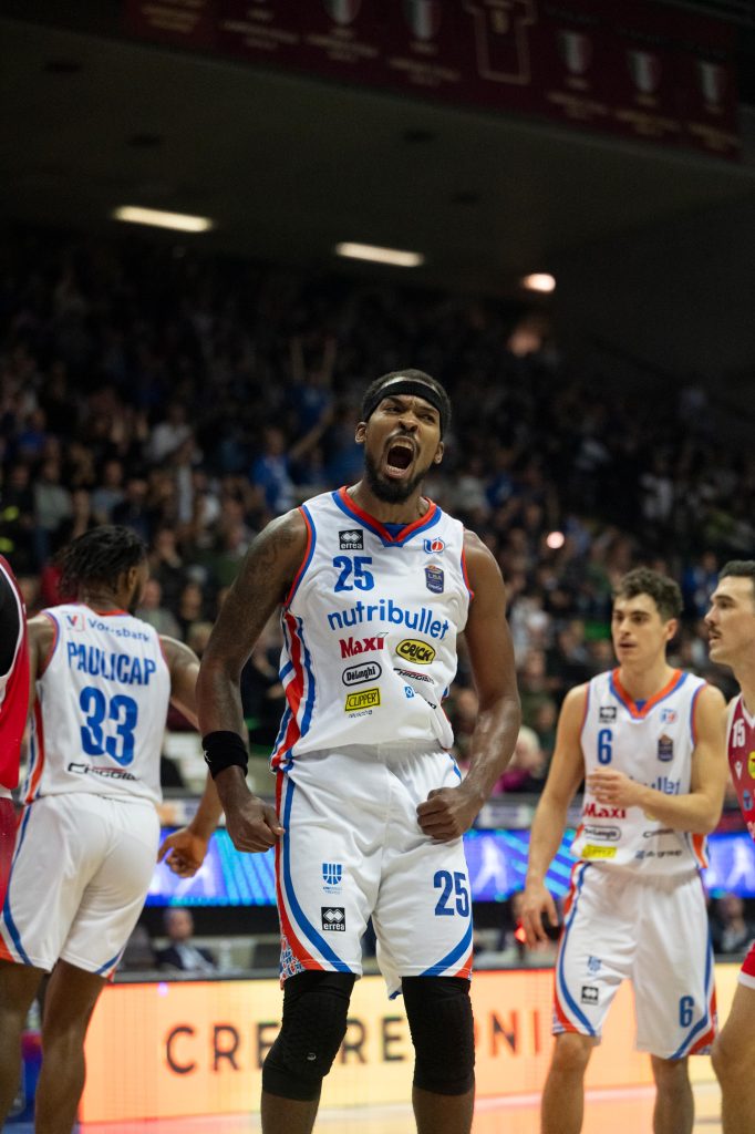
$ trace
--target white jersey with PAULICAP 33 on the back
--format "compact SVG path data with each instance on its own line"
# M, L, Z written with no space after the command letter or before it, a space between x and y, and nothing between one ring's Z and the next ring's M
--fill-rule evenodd
M25 802L87 792L158 803L170 672L156 631L82 603L43 613L56 636L36 683Z

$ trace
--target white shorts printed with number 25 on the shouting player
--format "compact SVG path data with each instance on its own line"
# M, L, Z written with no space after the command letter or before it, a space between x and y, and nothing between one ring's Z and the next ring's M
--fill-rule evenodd
M433 841L416 814L433 788L459 784L447 752L406 744L307 753L278 773L281 980L307 968L362 975L371 915L391 996L402 976L469 976L463 843Z

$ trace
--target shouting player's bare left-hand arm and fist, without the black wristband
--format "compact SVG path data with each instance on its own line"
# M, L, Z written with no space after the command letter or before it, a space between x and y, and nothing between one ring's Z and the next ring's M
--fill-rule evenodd
M197 710L200 730L244 735L239 682L241 669L274 611L286 599L307 544L307 528L298 510L274 519L254 540L228 593L200 666ZM237 850L266 850L283 828L274 807L254 796L238 767L215 778L226 824Z

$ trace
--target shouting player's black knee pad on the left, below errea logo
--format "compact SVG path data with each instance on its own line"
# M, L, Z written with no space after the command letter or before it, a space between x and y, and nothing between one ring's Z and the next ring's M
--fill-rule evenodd
M283 1023L262 1068L268 1094L316 1099L346 1034L354 973L297 973L283 984Z

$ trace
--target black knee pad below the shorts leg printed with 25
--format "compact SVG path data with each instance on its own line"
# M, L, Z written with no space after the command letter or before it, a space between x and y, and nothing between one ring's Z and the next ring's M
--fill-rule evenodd
M416 1056L414 1085L435 1094L466 1094L475 1083L469 981L405 976L401 989Z

